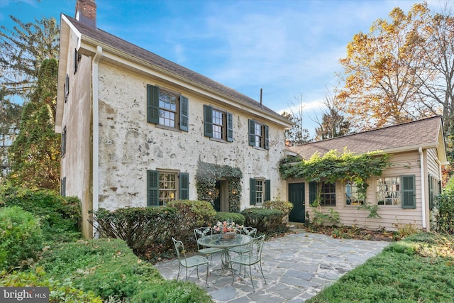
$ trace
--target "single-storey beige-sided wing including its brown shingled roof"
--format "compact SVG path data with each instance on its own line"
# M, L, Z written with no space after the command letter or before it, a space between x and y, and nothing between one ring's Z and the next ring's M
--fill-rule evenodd
M448 164L441 116L355 133L319 142L287 147L289 155L308 160L314 153L323 156L329 150L344 149L363 154L379 151L389 155L389 167L380 177L367 180L366 199L358 198L353 182L306 182L287 180L289 200L294 204L290 221L304 222L314 211L328 214L334 209L345 225L396 230L405 225L431 229L433 197L441 191L441 167ZM320 191L321 206L309 206ZM358 209L363 204L378 205L380 218Z

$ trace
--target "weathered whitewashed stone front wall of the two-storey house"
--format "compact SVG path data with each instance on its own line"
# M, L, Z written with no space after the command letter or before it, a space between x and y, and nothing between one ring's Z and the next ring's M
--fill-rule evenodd
M189 131L148 123L146 85L170 89L189 98ZM233 114L233 142L204 136L204 104ZM248 145L248 119L270 126L270 150ZM197 199L197 163L239 167L243 172L241 209L249 207L249 178L271 180L271 197L285 199L278 162L284 157L284 128L266 117L239 112L184 87L157 82L105 62L99 64L99 207L146 206L146 171L189 172L189 199Z

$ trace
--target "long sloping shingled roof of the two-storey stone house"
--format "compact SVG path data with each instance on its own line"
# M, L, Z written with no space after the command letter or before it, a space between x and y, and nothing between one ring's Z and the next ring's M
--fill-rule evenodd
M109 45L112 48L116 48L117 50L120 50L123 53L127 53L129 55L132 55L133 57L137 57L141 60L144 60L145 62L149 62L152 65L160 67L163 70L166 70L167 72L171 72L175 75L178 75L179 77L184 77L185 79L188 79L192 82L196 82L202 87L214 89L216 92L225 94L228 97L237 99L239 101L243 101L252 106L256 106L264 111L267 111L267 113L270 114L271 116L275 116L279 120L284 121L284 118L281 115L277 114L272 109L260 104L260 102L255 101L254 99L246 96L245 94L237 92L235 89L226 87L225 85L220 84L212 79L209 79L204 75L189 70L186 67L182 67L181 65L177 65L177 63L175 62L160 57L155 53L151 53L150 51L140 48L137 45L128 43L126 40L118 38L115 35L111 35L110 33L102 31L99 28L87 26L86 24L81 23L76 19L71 18L70 16L67 16L65 14L62 14L62 16L65 16L65 18L67 18L67 20L72 23L74 28L76 28L77 31L79 31L82 34L82 36L85 35L89 38L99 41L102 44ZM291 122L289 122L289 125L291 125Z

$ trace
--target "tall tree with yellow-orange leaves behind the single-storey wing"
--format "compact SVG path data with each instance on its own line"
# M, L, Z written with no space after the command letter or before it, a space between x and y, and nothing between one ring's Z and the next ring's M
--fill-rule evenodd
M358 33L340 60L345 86L338 94L359 129L454 114L454 22L448 10L426 3L409 13L395 8Z

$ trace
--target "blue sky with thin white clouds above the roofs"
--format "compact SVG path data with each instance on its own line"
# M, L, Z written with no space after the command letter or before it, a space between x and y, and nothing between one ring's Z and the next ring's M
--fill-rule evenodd
M279 114L304 102L321 121L326 89L355 33L415 0L96 0L97 27L260 100ZM76 0L0 0L0 25L74 17ZM433 10L444 1L428 1Z

